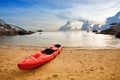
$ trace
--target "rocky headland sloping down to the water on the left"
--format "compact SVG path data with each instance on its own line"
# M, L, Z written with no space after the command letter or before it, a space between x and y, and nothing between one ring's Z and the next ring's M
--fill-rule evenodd
M0 19L0 36L26 35L32 33L34 32L26 31L18 26L7 24L5 21Z

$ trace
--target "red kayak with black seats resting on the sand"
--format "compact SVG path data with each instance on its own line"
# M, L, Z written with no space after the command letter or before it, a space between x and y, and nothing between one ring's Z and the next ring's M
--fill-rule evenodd
M18 63L18 67L21 70L30 70L39 67L52 59L54 59L60 52L62 47L59 44L52 45L42 51L39 51L33 55L26 57L24 60Z

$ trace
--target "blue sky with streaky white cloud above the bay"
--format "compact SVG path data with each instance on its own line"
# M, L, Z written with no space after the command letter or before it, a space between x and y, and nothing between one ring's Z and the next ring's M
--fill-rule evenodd
M119 11L120 0L0 0L0 19L33 30L56 30L77 19L102 23Z

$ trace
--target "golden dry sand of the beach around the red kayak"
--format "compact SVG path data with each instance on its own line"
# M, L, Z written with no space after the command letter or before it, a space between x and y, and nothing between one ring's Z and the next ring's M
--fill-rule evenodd
M19 70L26 56L44 48L0 48L0 80L120 80L120 49L63 48L34 70Z

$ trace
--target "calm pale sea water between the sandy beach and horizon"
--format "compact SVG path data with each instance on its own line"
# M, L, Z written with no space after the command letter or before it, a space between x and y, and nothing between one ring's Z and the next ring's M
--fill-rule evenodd
M63 47L120 48L120 39L111 35L86 31L43 32L23 36L0 37L0 46L48 47L59 43Z

